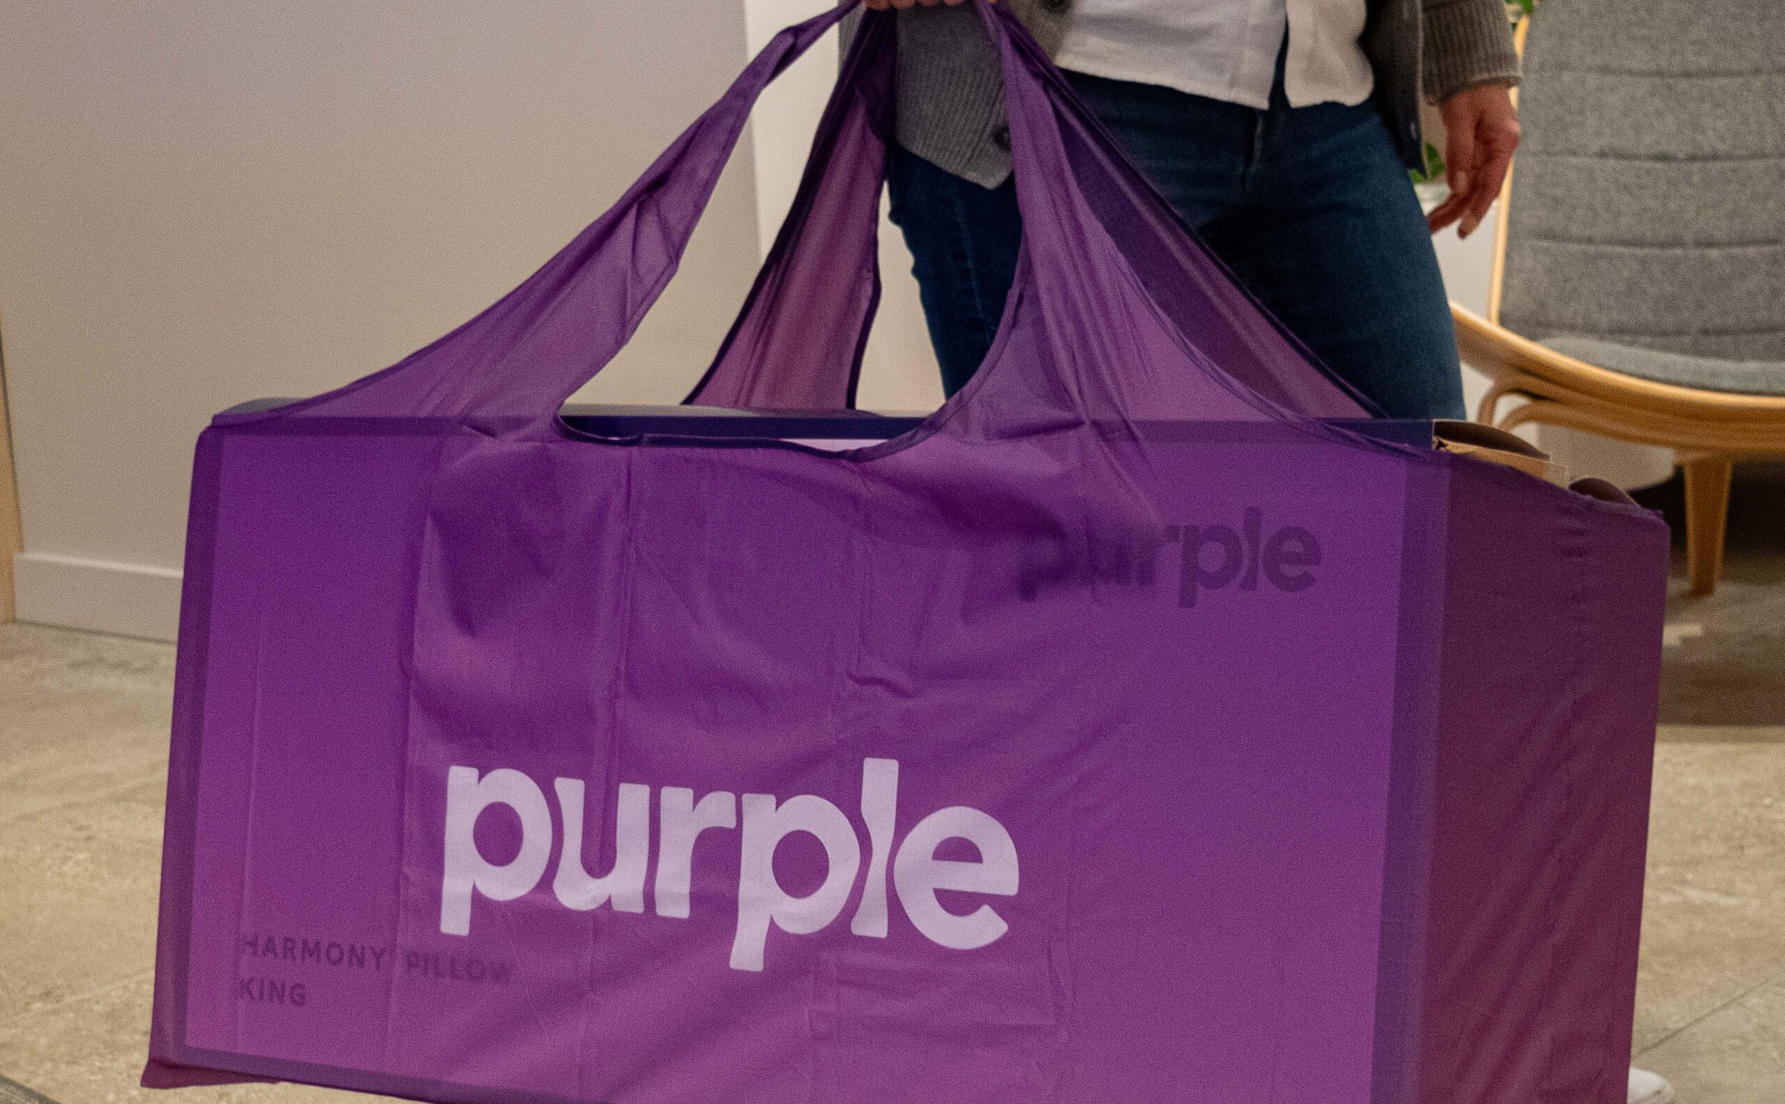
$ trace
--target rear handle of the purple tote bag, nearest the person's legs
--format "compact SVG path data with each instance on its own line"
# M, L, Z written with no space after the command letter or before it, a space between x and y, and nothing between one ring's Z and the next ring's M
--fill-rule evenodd
M1191 337L1219 373L1269 403L1308 417L1378 414L1369 400L1332 375L1301 342L1264 310L1216 259L1153 184L1128 161L1119 143L1080 102L1041 48L1010 21L989 20L991 41L1003 54L1012 95L1042 91L1032 103L1059 127L1062 169L1017 171L1017 182L1042 185L1071 180L1085 196L1067 218L1094 218L1114 237L1128 266L1142 273L1153 301ZM1009 14L1005 14L1009 20ZM884 146L894 130L892 50L871 39L869 21L859 50L844 64L837 95L819 125L798 196L750 300L719 357L689 403L830 410L855 405L862 350L878 301L878 202ZM866 46L866 50L862 48ZM887 43L891 46L891 43ZM1028 80L1025 77L1034 77ZM1023 128L1021 111L1014 118ZM1053 134L1016 141L1014 161L1034 150L1037 161ZM1034 212L1034 202L1026 209ZM1050 237L1059 239L1059 234ZM1059 257L1071 280L1085 269L1083 253Z

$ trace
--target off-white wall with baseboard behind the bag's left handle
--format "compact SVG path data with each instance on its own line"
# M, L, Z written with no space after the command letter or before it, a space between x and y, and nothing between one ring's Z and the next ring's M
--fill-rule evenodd
M0 0L20 617L170 637L209 416L500 296L725 89L737 0ZM598 394L673 401L757 264L750 150Z

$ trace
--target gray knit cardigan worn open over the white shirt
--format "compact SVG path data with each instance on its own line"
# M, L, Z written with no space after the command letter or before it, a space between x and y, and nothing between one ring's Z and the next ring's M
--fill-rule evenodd
M1001 0L1055 54L1073 0ZM1440 102L1478 84L1515 84L1519 57L1503 0L1369 0L1364 54L1373 98L1401 159L1423 164L1421 96ZM1003 78L971 5L898 12L898 139L937 166L985 187L1010 175Z

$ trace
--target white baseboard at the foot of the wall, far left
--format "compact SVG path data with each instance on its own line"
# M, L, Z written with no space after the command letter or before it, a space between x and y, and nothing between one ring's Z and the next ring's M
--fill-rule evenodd
M12 556L18 619L116 637L173 640L180 573L48 553Z

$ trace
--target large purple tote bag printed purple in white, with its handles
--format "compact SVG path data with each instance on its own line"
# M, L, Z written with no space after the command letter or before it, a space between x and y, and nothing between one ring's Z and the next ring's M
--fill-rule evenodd
M980 11L1023 257L917 430L559 417L839 11L466 326L203 432L146 1084L1623 1099L1665 528L1335 424ZM691 401L850 403L891 27Z

